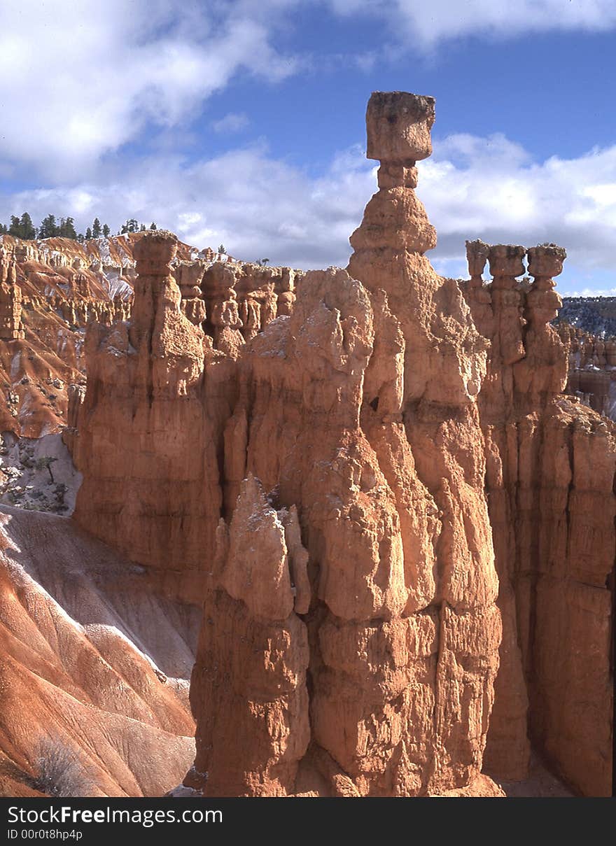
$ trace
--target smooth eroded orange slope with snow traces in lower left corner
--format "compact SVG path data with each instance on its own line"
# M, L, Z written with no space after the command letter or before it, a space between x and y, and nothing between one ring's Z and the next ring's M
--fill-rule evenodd
M0 795L31 795L47 749L80 795L178 783L199 619L71 520L0 507Z

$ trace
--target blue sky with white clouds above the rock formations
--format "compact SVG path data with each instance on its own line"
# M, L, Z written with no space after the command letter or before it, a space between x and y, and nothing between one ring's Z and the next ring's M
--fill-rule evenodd
M563 244L616 294L613 0L22 0L0 28L0 220L156 220L239 258L344 266L376 190L371 91L437 98L432 261Z

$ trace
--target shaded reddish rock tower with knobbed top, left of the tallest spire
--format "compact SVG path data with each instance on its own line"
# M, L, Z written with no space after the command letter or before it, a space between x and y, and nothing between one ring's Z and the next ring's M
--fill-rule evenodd
M85 399L74 400L74 459L84 472L74 516L159 569L171 594L202 596L195 580L220 514L216 426L225 407L217 393L225 377L220 356L184 316L170 268L175 250L164 232L136 244L130 323L91 325Z

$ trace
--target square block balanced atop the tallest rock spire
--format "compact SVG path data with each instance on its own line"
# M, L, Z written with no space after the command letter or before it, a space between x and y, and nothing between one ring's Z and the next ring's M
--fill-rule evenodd
M434 97L406 91L373 91L366 109L366 157L416 162L432 155Z

